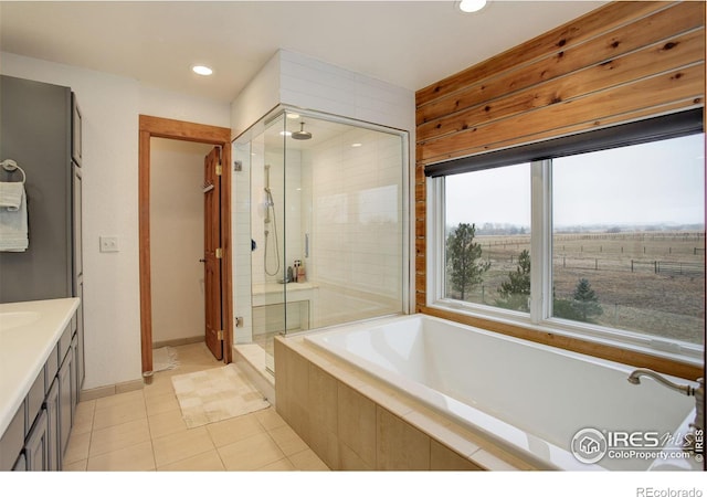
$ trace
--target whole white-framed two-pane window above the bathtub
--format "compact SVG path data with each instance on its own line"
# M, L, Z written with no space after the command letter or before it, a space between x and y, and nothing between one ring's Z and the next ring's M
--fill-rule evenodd
M704 134L642 141L431 175L429 304L700 357Z

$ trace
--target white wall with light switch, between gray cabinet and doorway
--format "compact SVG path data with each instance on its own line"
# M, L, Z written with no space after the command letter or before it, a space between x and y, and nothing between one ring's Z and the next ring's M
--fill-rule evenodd
M81 67L1 53L0 72L71 86L83 112L85 389L140 378L138 115L230 126L230 105ZM99 253L98 237L119 252Z

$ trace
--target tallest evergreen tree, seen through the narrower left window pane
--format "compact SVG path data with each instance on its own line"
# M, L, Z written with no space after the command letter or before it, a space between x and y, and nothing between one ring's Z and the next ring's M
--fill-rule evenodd
M465 294L482 283L483 274L490 267L490 262L477 261L482 256L482 246L474 243L476 225L460 223L446 237L446 265L452 288Z

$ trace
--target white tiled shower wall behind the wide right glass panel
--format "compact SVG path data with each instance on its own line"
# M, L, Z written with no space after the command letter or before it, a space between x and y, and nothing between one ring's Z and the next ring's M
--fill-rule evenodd
M314 325L401 311L401 138L352 129L304 154L303 163L313 199L306 263L319 286Z

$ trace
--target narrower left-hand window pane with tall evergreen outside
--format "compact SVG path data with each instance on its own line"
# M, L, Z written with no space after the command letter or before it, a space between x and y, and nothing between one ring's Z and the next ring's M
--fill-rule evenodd
M450 178L444 296L528 311L530 165Z

